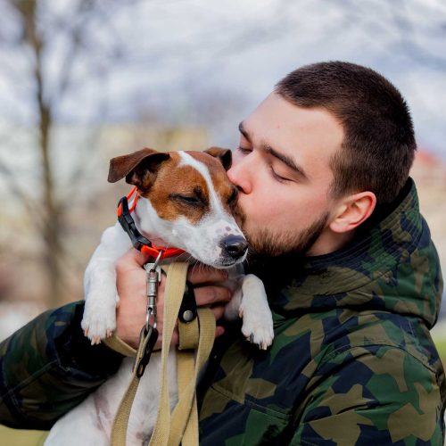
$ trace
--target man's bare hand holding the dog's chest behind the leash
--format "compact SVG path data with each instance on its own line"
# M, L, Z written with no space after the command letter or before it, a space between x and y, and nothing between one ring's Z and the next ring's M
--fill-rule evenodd
M123 255L116 265L116 285L120 296L120 304L116 312L116 334L128 345L137 347L139 333L145 326L145 281L146 273L143 265L147 261L144 254L131 249ZM227 271L207 268L200 265L189 268L187 279L194 284L196 304L199 307L211 307L215 318L222 318L225 305L231 300L231 291L222 285L214 285L227 279ZM155 350L161 348L162 316L164 308L164 287L166 277L162 275L156 300L157 326L159 332ZM222 335L224 329L217 326L216 336ZM171 343L178 343L178 328L175 328Z

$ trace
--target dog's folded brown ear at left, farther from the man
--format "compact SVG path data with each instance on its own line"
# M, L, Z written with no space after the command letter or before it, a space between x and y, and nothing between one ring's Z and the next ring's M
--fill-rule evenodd
M117 156L110 160L108 181L116 183L125 177L128 184L143 190L150 186L152 174L156 173L161 162L168 160L169 157L169 153L147 148L128 155Z

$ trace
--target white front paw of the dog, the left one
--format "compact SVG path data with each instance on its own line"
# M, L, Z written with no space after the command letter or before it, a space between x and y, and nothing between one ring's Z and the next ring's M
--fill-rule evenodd
M101 339L111 336L116 328L116 305L104 308L103 305L86 302L80 326L92 345L101 343Z

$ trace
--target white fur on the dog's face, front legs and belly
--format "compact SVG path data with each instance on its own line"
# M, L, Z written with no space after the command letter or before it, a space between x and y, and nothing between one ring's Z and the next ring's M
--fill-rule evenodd
M243 236L235 219L219 200L209 169L188 153L179 152L178 166L191 166L204 178L209 191L211 211L192 224L185 217L173 221L161 219L149 200L140 198L133 214L136 226L154 244L169 244L185 250L210 266L226 268L223 261L221 240L227 235ZM85 274L86 306L82 328L94 342L103 339L116 327L115 310L119 301L116 291L116 260L131 247L128 235L119 223L107 228L101 244L95 250ZM244 258L237 260L240 263ZM234 268L235 269L235 268ZM234 298L227 305L226 317L244 316L242 331L253 335L254 343L263 347L272 343L273 326L271 312L263 284L253 275L238 276ZM175 349L169 351L168 368L176 368ZM46 445L95 446L110 444L111 424L120 400L128 387L133 359L124 359L118 373L111 377L86 401L62 417L52 428ZM142 377L128 422L128 445L147 444L156 419L159 384L161 383L161 355L153 352ZM169 374L170 401L177 401L175 373Z

